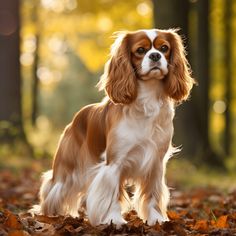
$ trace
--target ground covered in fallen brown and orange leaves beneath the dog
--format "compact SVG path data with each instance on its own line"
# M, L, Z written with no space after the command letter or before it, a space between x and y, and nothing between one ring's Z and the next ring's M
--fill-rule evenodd
M0 172L0 235L236 235L236 190L172 190L169 222L150 227L131 211L125 215L128 223L116 229L92 227L83 216L31 216L27 210L38 201L38 177L30 169L19 176Z

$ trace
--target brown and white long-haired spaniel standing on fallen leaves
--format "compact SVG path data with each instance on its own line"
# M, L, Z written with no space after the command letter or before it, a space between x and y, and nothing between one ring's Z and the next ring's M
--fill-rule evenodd
M138 215L149 225L168 220L165 168L174 150L175 104L193 83L175 30L119 33L99 82L107 96L66 127L43 175L38 212L74 216L83 208L92 225L121 225L132 181Z

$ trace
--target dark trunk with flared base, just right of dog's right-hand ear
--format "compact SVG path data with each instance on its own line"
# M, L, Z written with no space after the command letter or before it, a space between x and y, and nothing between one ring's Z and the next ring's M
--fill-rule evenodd
M210 0L198 0L197 3L197 50L195 74L199 82L196 93L198 114L200 114L200 135L202 151L201 159L204 163L224 167L223 158L216 153L210 142L209 134L209 108L210 108L210 33L209 33L209 12Z

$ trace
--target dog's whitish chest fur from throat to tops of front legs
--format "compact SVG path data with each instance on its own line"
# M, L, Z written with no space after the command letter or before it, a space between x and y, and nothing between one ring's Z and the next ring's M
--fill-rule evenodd
M158 96L155 87L150 88L140 87L136 102L124 109L115 129L119 159L134 158L127 155L138 147L140 151L135 153L135 159L140 167L147 167L158 150L166 149L173 134L173 103Z

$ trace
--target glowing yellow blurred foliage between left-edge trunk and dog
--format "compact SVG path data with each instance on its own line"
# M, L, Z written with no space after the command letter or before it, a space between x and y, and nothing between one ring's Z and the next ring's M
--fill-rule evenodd
M113 32L151 28L152 2L25 0L21 14L24 116L31 119L32 78L37 77L36 131L29 132L30 140L54 152L57 132L81 106L103 96L95 85L108 59Z

